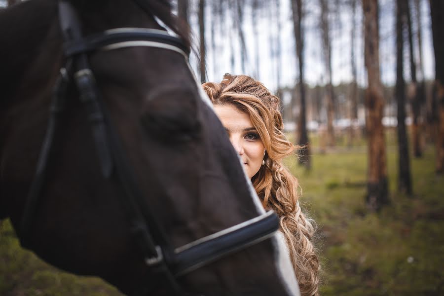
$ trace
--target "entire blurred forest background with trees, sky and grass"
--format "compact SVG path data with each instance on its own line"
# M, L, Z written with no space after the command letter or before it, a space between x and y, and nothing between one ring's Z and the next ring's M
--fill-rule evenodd
M258 78L306 145L286 164L318 223L321 295L444 295L444 2L173 4L193 32L196 76ZM119 293L21 249L6 221L0 295Z

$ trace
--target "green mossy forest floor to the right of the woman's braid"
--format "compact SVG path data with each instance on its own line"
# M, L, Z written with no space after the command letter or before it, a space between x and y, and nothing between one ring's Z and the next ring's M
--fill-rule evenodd
M407 196L397 190L397 147L388 146L391 204L380 213L365 204L366 150L345 149L314 154L311 171L296 157L286 161L299 179L302 207L318 223L321 295L444 295L444 177L435 174L434 148L410 158Z

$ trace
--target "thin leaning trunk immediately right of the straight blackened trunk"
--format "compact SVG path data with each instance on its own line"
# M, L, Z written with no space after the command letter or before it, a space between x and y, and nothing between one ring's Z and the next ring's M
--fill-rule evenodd
M410 82L410 91L409 93L409 99L411 102L411 109L413 114L413 122L412 122L412 129L411 129L411 137L413 141L413 155L415 157L421 157L422 156L422 148L421 148L421 141L419 139L420 135L422 134L420 131L419 121L420 121L420 114L421 114L421 97L418 92L418 83L416 79L416 61L415 61L415 51L413 49L413 33L412 33L412 22L411 22L411 16L410 16L410 7L408 5L408 0L404 4L404 11L405 16L407 18L407 29L408 29L408 50L409 50L409 57L410 57L410 76L411 76L411 82ZM419 30L420 28L418 28Z

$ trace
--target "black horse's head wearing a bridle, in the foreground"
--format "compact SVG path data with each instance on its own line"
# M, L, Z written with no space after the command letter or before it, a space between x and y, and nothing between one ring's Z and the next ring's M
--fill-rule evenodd
M0 218L23 246L129 295L298 295L169 3L24 1L0 41Z

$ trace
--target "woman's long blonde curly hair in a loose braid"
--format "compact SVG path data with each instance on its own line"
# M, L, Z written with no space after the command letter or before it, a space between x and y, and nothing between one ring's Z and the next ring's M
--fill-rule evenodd
M231 104L250 116L266 149L265 165L251 181L263 207L280 217L301 295L319 295L320 265L312 243L315 223L302 213L298 181L282 164L282 159L294 153L296 147L283 132L279 98L246 75L225 74L221 83L206 82L202 87L214 105Z

